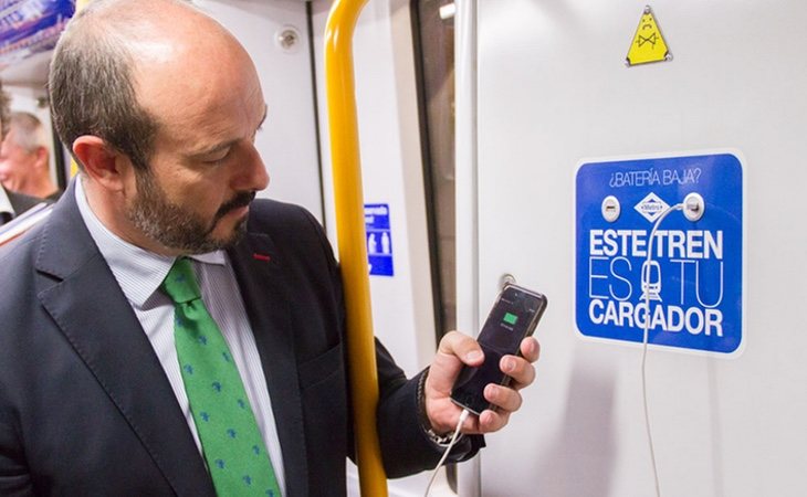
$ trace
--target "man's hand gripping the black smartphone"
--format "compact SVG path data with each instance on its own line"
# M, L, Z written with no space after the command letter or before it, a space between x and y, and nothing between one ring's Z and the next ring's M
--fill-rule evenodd
M538 341L527 337L521 342L523 357L502 358L499 367L513 380L509 387L493 383L485 387L484 398L495 409L483 411L479 417L469 416L462 425L462 433L490 433L507 424L510 414L521 408L522 399L518 390L535 379L535 368L532 362L538 360L539 352ZM483 361L484 356L479 343L467 335L450 331L440 340L425 385L426 414L436 433L449 433L457 427L462 409L451 402L450 395L451 387L460 374L462 364L480 366Z

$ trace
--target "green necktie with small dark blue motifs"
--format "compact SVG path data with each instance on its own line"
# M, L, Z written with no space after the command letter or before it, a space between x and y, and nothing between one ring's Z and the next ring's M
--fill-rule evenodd
M175 304L177 357L216 494L280 497L238 367L205 307L191 262L177 258L160 287Z

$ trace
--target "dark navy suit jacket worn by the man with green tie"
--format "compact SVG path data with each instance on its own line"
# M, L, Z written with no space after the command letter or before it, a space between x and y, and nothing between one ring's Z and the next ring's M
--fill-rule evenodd
M302 208L256 201L249 233L229 255L266 376L287 495L344 495L353 435L331 246ZM72 188L3 251L0 282L0 495L214 495ZM407 381L378 352L388 475L433 467L440 453L417 422L417 378ZM468 455L479 443L469 438L460 448Z

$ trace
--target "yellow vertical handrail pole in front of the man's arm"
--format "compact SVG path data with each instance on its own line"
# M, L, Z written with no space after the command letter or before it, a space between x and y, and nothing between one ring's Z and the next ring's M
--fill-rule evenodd
M325 87L339 263L345 282L347 347L356 463L363 496L386 497L387 475L378 443L378 373L364 224L361 166L353 73L353 33L367 0L335 0L325 29Z

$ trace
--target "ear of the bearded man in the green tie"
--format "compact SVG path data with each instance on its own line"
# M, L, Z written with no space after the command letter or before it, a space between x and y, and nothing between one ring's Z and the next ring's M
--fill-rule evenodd
M123 191L132 167L128 158L109 146L103 138L84 135L73 141L73 154L84 166L87 176L112 191Z

